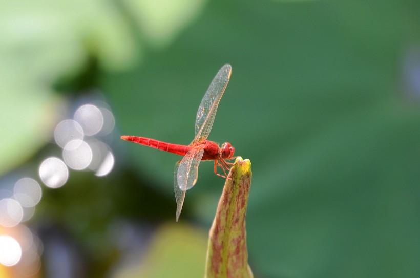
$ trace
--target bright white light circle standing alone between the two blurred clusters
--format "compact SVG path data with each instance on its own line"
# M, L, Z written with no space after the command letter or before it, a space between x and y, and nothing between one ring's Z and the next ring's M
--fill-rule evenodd
M50 157L39 166L39 177L50 188L63 186L69 178L69 169L59 158Z

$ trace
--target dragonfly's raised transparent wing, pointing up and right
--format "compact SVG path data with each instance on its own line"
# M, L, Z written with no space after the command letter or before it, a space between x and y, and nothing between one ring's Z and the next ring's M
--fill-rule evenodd
M217 106L226 89L227 82L229 82L231 73L232 67L229 64L224 65L213 79L201 100L196 117L195 141L207 139L208 134L212 130Z

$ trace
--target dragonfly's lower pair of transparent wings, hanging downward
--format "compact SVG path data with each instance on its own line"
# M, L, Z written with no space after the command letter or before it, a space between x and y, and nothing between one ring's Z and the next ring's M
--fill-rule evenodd
M177 221L181 215L186 190L193 187L198 178L198 165L203 157L202 148L193 148L184 158L175 164L174 191L177 201Z

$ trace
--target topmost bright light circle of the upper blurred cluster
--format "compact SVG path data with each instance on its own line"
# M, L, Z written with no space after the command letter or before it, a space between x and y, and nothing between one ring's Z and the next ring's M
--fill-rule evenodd
M80 106L74 113L74 120L81 125L87 136L97 134L103 126L102 112L92 104Z

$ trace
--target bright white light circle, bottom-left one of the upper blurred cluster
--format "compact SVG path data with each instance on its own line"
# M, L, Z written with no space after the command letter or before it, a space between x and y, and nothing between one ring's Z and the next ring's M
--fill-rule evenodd
M82 170L92 161L92 149L85 141L72 140L64 147L62 157L70 168Z

